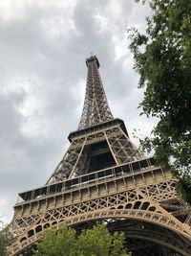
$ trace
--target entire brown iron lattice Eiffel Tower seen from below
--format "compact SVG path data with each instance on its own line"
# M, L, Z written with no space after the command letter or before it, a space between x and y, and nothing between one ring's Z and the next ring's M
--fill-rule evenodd
M9 256L32 255L48 227L81 230L96 221L123 231L133 256L191 255L191 208L176 180L131 142L109 108L96 56L86 59L85 102L70 147L47 183L19 194Z

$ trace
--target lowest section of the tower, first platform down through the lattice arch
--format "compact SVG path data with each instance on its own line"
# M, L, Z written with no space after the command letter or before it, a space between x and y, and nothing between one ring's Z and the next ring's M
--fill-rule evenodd
M59 228L63 221L76 225L98 220L127 220L129 224L136 221L141 227L125 229L127 237L147 242L148 251L154 249L148 248L150 244L156 243L189 256L191 210L177 197L176 181L170 172L163 173L152 163L143 167L140 162L139 166L132 169L131 174L112 168L113 176L106 173L97 180L74 182L75 185L70 183L61 189L60 184L54 184L54 190L49 189L49 193L17 203L11 222L15 241L9 255L20 255L41 238L47 227Z

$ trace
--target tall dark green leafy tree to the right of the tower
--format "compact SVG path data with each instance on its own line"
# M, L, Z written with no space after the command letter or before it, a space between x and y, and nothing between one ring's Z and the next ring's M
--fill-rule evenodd
M139 107L159 118L152 137L140 143L143 150L155 150L164 169L171 166L180 196L191 202L191 2L148 2L146 32L128 31L138 86L145 88Z

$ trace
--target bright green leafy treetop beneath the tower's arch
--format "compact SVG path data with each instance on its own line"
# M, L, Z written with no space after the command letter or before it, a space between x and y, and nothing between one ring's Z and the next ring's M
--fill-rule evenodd
M34 256L129 256L123 233L109 233L105 224L83 230L77 237L73 228L63 225L48 229L36 244Z

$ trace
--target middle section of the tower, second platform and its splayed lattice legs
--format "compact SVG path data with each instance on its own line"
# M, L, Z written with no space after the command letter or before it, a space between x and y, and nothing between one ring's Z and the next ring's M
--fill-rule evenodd
M75 131L69 139L71 145L47 184L144 158L119 119Z

